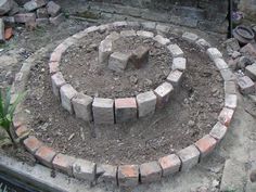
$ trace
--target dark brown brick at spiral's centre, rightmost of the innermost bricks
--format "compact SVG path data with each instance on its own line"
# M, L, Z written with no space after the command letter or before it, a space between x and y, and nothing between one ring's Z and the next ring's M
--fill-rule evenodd
M136 68L141 68L143 65L149 63L150 48L139 46L130 57L130 63L135 65Z

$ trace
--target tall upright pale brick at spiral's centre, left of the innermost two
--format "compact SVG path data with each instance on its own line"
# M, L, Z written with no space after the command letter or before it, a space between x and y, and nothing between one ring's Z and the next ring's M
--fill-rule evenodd
M110 55L113 53L113 43L111 40L103 40L99 46L99 63L107 66Z

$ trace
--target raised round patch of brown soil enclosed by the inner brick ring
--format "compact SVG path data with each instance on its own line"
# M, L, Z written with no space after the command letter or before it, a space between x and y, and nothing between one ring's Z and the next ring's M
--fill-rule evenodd
M78 91L101 98L136 97L155 89L170 72L171 55L153 39L129 37L114 43L114 52L130 52L139 46L150 48L149 63L140 69L131 64L124 73L115 73L98 62L98 47L108 33L88 35L63 55L61 71Z

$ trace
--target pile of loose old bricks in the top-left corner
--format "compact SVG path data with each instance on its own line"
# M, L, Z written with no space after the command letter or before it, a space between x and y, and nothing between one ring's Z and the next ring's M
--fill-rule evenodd
M65 20L61 7L49 0L0 0L0 41L11 38L10 24L25 24L28 28L59 25ZM11 33L11 35L10 35Z

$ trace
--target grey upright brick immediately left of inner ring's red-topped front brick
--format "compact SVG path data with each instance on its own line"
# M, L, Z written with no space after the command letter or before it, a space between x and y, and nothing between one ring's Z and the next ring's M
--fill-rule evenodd
M114 100L94 98L92 113L94 124L114 124Z

